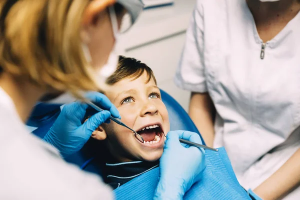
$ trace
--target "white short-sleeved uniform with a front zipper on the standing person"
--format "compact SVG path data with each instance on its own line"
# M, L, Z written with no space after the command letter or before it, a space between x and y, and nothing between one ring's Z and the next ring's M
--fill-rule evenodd
M181 88L209 92L214 146L225 146L245 188L300 147L300 12L266 42L264 56L261 48L245 0L198 0L175 76ZM299 197L300 187L286 199Z

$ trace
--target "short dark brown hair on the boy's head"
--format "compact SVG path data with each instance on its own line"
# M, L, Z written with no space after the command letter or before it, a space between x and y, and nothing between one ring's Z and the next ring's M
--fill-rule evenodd
M136 79L140 77L144 71L147 73L146 82L149 82L150 79L153 78L156 84L155 76L150 67L135 58L120 55L117 68L115 72L107 78L106 83L112 85L124 78Z

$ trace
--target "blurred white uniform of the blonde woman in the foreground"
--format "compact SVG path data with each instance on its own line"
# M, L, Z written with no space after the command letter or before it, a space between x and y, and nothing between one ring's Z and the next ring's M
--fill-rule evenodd
M112 199L112 192L30 134L0 87L0 199Z

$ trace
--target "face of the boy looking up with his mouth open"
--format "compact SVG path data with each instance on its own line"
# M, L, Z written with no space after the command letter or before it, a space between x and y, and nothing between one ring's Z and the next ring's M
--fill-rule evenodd
M119 110L121 121L147 141L140 142L132 131L113 121L104 124L108 148L119 161L155 161L162 154L165 137L161 132L166 134L169 131L168 113L154 80L151 78L145 83L146 80L144 72L135 80L122 79L105 91Z

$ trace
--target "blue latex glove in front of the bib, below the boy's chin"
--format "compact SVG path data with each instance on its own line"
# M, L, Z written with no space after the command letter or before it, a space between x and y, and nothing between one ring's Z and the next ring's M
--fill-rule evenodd
M202 144L195 132L175 130L167 133L154 199L182 199L191 185L202 177L206 166L204 150L182 144L179 138Z

